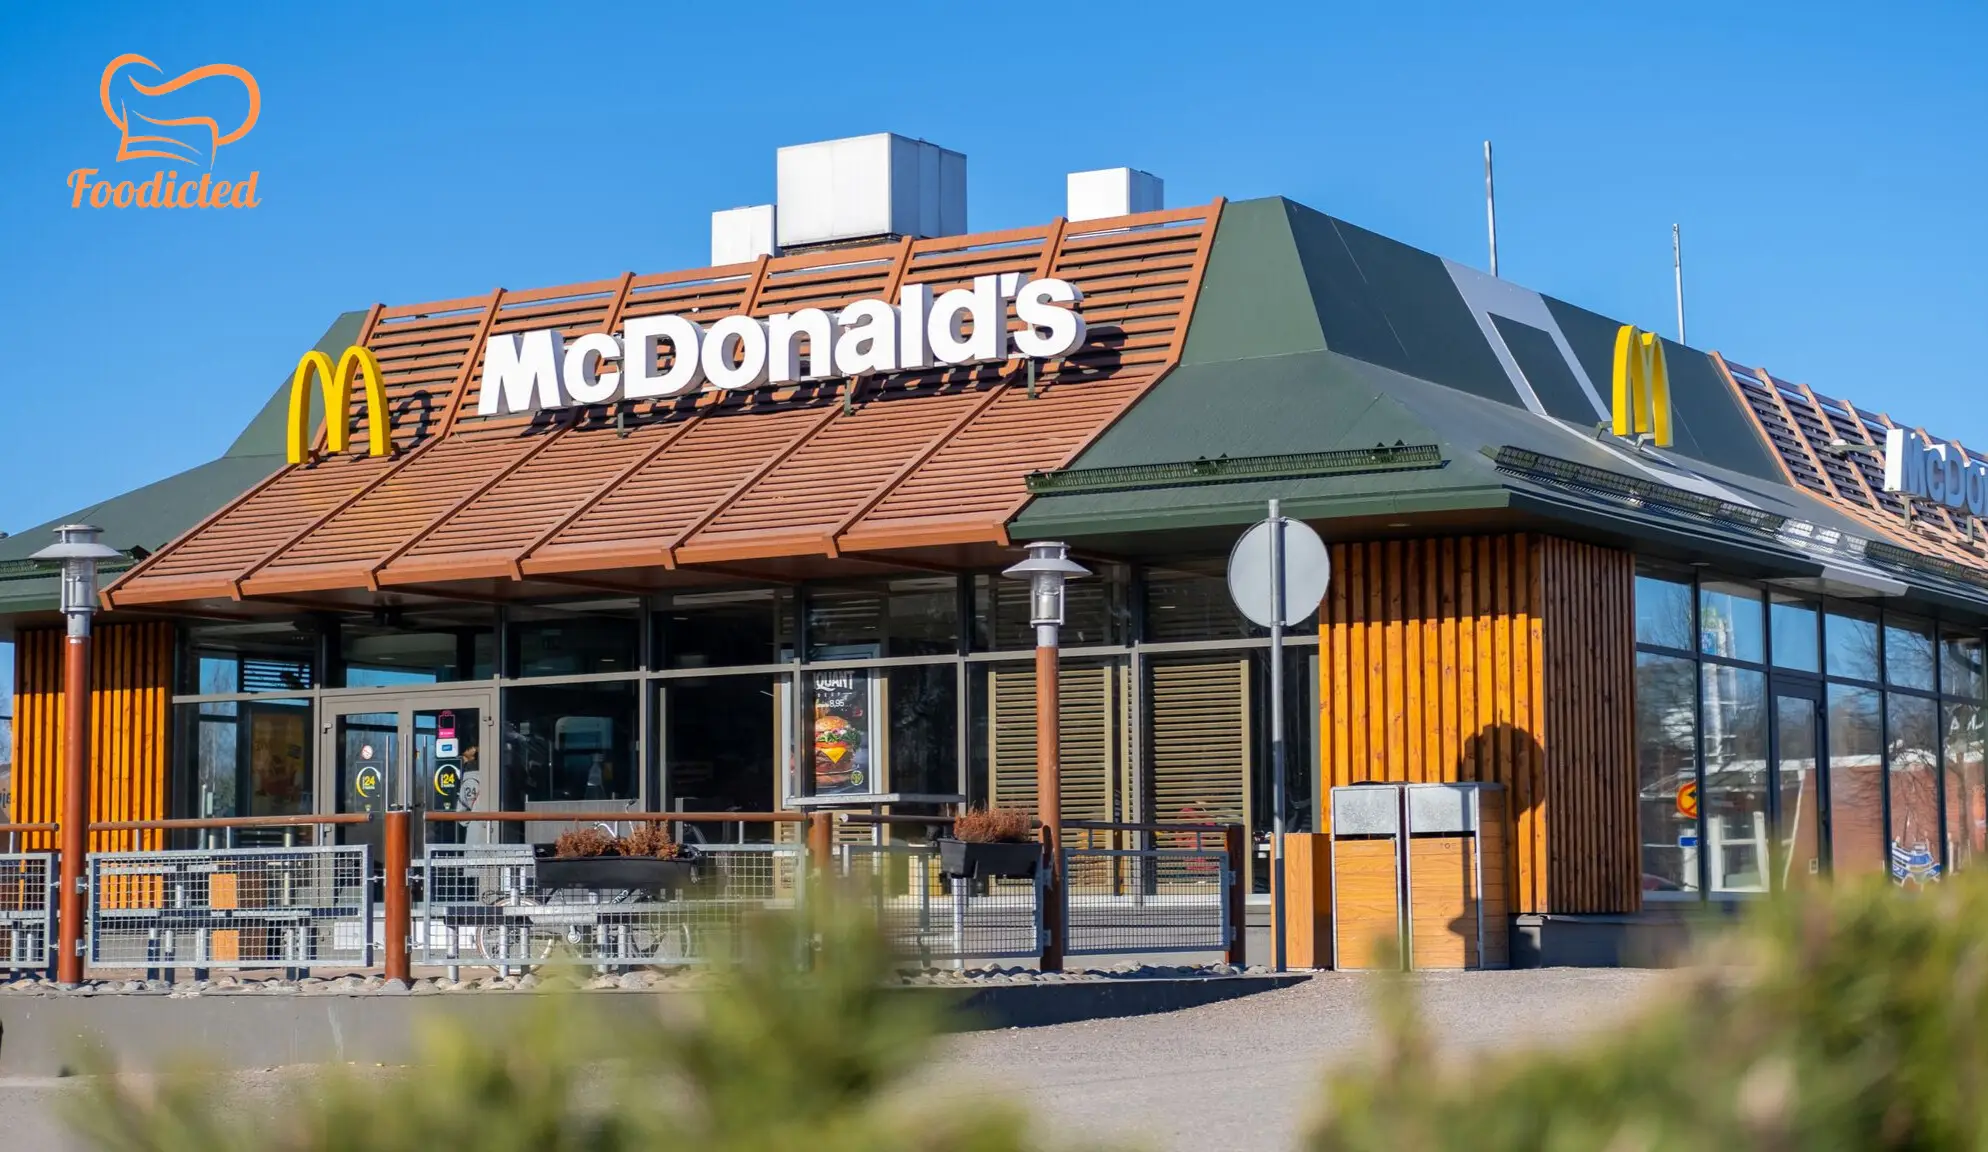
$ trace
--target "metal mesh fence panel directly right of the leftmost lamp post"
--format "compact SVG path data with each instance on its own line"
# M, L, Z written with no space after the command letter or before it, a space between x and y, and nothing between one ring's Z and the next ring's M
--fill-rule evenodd
M97 852L91 967L372 967L366 846Z

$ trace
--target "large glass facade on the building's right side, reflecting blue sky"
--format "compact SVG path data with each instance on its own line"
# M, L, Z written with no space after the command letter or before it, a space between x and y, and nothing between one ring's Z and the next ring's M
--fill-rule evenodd
M1646 899L1930 883L1982 852L1978 633L1644 565L1636 643Z

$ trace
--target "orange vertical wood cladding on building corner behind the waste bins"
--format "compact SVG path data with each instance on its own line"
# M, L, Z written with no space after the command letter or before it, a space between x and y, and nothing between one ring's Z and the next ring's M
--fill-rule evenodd
M1320 792L1499 782L1513 911L1640 907L1630 553L1525 533L1336 543L1332 573Z

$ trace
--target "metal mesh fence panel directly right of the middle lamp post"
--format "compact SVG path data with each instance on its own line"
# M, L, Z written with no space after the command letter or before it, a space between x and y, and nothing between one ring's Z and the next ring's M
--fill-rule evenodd
M1225 951L1229 854L1219 848L1064 852L1066 953Z

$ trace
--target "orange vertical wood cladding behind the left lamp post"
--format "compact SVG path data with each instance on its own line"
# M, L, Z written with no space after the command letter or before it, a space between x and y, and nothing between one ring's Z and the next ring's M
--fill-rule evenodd
M14 643L16 824L62 816L62 631L26 631ZM89 661L89 820L165 818L167 722L173 684L173 627L165 623L95 629ZM54 848L52 834L26 836L30 850ZM91 850L159 848L159 832L97 832Z

